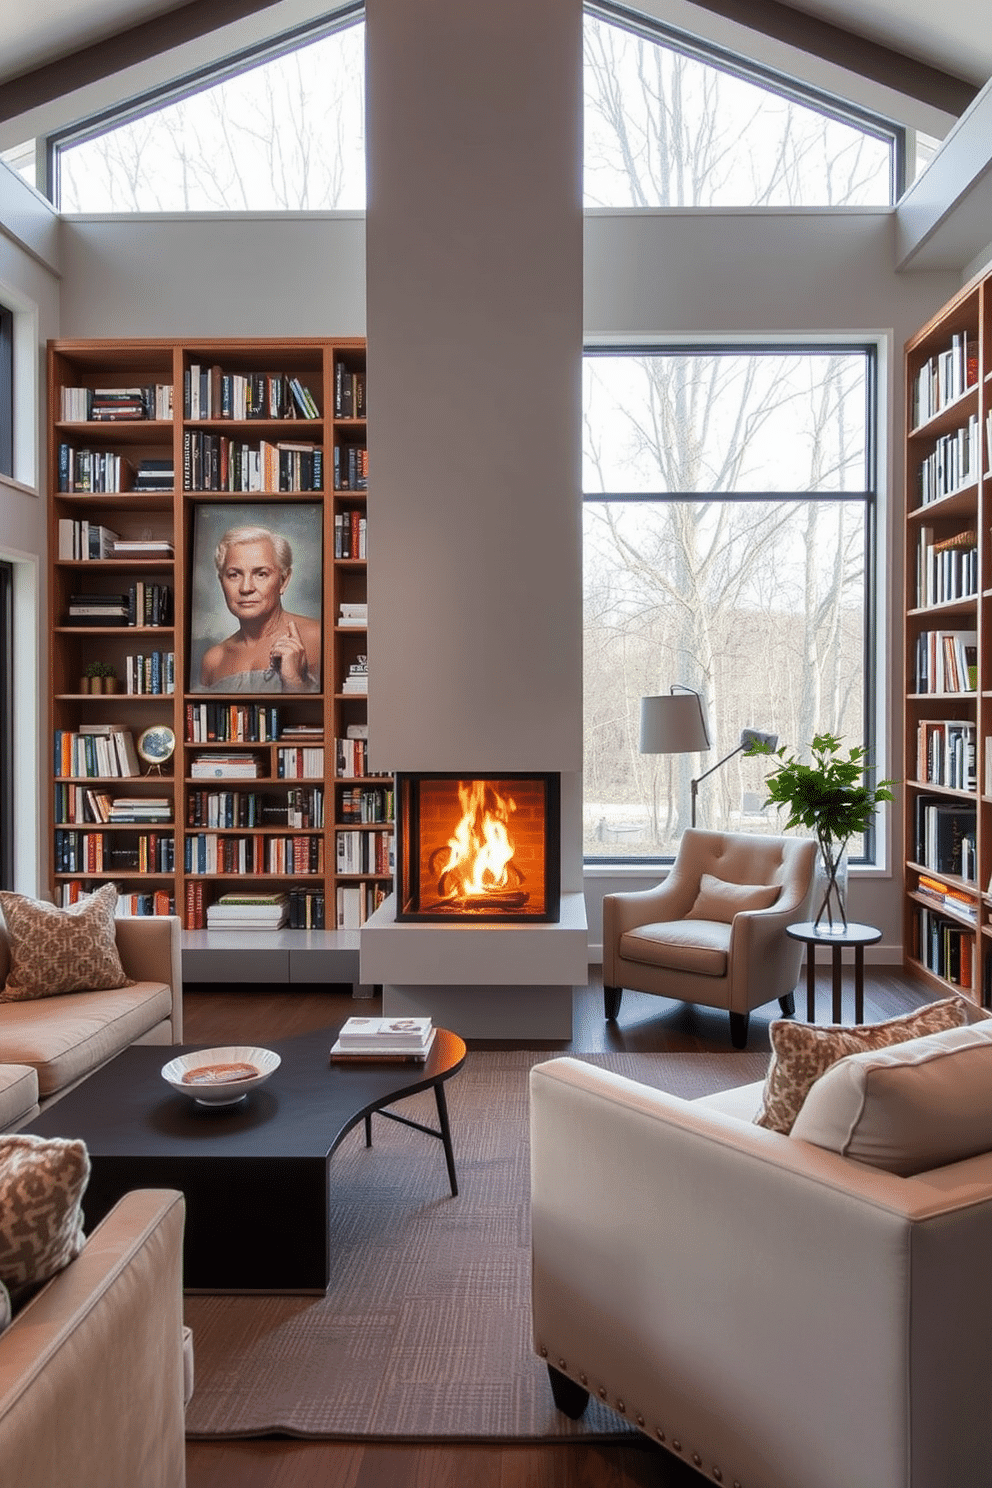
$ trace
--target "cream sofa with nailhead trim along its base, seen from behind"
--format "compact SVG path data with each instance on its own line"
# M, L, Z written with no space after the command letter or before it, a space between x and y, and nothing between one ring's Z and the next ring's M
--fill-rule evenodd
M709 1482L992 1484L992 1150L901 1177L754 1125L760 1097L534 1068L556 1403L598 1396Z

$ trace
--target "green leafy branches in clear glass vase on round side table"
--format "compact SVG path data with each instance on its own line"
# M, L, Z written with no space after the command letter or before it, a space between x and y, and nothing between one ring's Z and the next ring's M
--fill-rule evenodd
M817 734L805 763L785 747L770 750L754 743L745 754L772 754L778 765L767 775L766 805L788 808L785 827L809 827L819 845L819 879L815 891L815 926L839 933L848 929L848 842L867 832L879 802L891 801L894 780L869 786L869 762L860 744L846 756L836 734Z

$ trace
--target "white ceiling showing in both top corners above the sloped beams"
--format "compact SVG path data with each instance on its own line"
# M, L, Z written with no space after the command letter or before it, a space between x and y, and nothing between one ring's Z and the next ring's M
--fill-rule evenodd
M0 0L0 80L65 57L189 0ZM538 0L540 3L540 0ZM706 4L706 0L702 0ZM631 0L637 9L637 0ZM730 13L726 4L715 4ZM314 12L333 9L333 0ZM802 0L793 9L982 85L992 77L988 0ZM735 7L736 16L744 10Z

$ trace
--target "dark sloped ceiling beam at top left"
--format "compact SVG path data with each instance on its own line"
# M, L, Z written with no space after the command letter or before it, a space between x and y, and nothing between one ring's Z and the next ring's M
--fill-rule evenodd
M100 82L125 67L146 62L162 52L195 42L220 27L233 25L248 15L268 10L277 0L192 0L167 15L143 21L92 46L68 52L52 62L21 73L0 83L0 121L16 119L54 98L62 98Z

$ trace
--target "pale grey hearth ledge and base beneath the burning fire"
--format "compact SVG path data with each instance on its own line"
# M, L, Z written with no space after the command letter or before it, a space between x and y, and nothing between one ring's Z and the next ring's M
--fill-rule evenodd
M361 927L360 976L387 1016L428 1015L464 1039L570 1039L571 994L589 979L586 900L555 924L397 923L396 897Z

